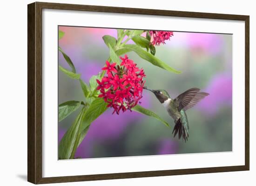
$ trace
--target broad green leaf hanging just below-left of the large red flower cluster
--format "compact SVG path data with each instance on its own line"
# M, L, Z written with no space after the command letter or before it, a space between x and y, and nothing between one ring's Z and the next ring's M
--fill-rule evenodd
M95 119L97 119L108 107L108 103L104 102L102 98L95 98L86 110L85 117L81 126L81 132L87 128Z

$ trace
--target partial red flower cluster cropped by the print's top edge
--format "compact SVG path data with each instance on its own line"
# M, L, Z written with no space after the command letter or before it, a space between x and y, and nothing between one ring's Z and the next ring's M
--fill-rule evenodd
M153 37L152 45L165 44L165 40L170 40L170 37L173 36L173 32L165 31L149 31L151 37Z

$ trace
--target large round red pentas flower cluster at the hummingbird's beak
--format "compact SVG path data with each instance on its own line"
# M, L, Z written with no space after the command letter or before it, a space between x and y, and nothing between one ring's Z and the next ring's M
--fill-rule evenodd
M114 109L113 114L119 114L120 110L131 111L138 104L145 84L143 77L146 77L144 70L139 69L127 55L120 58L120 65L106 61L106 66L102 70L106 71L107 75L101 81L97 79L97 90L101 92L98 97L102 97L108 103L108 107Z

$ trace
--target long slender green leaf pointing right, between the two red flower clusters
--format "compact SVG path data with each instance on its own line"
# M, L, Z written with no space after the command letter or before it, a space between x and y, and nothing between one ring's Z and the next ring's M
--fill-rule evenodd
M170 66L168 66L168 64L164 63L162 60L156 58L155 56L153 56L152 54L148 53L147 51L143 50L141 47L137 46L137 45L124 45L124 48L130 49L132 51L135 51L135 53L140 56L142 59L147 60L148 62L150 62L151 64L154 64L155 66L158 66L162 69L165 69L167 71L170 72L174 72L176 74L180 74L181 71L177 71L173 68L171 68Z

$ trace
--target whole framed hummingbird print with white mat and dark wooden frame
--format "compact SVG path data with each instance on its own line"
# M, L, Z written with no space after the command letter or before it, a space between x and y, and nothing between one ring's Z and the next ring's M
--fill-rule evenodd
M29 182L249 170L249 16L27 10Z

